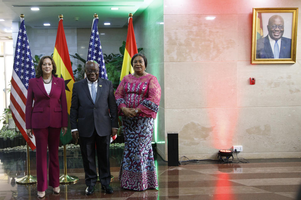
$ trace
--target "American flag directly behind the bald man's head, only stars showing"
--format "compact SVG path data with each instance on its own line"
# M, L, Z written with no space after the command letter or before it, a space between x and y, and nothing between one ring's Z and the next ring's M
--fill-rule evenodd
M95 60L99 65L99 77L108 79L106 66L104 65L104 60L103 60L103 51L101 50L101 45L100 45L97 24L98 24L98 17L93 19L87 61Z

